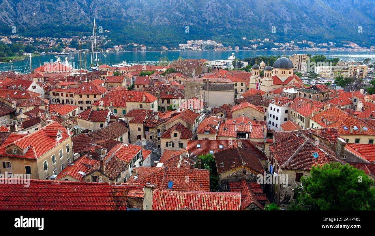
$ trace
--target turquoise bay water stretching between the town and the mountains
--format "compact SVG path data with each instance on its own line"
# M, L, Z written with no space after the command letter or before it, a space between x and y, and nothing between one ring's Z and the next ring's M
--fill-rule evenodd
M127 63L146 63L154 64L160 57L166 56L169 60L175 60L179 56L187 59L226 59L232 53L235 53L237 58L246 58L254 56L271 56L271 55L283 55L283 51L272 51L272 50L254 50L254 51L166 51L162 54L160 52L109 52L109 53L98 53L98 57L101 59L102 64L115 65L122 61ZM375 52L353 52L353 51L286 51L285 55L293 55L293 53L308 53L312 55L325 55L327 58L339 57L341 60L349 61L362 61L365 58L371 58L371 61L375 61ZM84 54L83 54L84 55ZM107 55L107 56L104 56ZM62 61L65 60L65 56L60 56ZM68 55L70 56L70 55ZM78 53L72 53L74 59L69 61L74 62L77 65ZM87 65L90 64L90 53L86 53ZM50 62L51 60L56 61L55 54L45 54L40 56L34 56L31 58L33 69L43 65L44 62ZM24 73L28 60L12 62L13 70ZM30 71L30 65L27 65L28 71ZM10 63L0 63L0 71L10 70Z

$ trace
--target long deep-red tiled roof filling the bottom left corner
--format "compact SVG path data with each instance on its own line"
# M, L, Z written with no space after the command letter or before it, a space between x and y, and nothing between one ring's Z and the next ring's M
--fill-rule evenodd
M16 182L16 181L15 181ZM1 210L126 210L132 190L128 185L79 181L30 180L25 184L0 184Z

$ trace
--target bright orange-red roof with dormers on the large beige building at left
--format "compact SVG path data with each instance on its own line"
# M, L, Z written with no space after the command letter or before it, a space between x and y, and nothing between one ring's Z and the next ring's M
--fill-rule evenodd
M52 148L56 147L55 135L57 131L60 131L62 135L60 142L63 142L73 135L72 132L66 134L64 126L57 122L52 122L31 134L22 135L21 137L19 135L17 137L17 134L15 134L12 138L8 137L8 139L0 146L0 155L37 159ZM37 142L35 142L35 140L37 140ZM15 144L22 149L28 148L28 150L24 155L6 153L5 148L10 144Z

